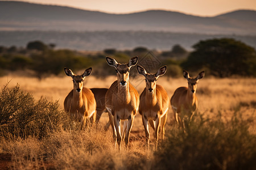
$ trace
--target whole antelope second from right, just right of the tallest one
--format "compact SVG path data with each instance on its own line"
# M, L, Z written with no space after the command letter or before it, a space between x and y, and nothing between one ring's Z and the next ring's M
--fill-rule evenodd
M158 149L158 134L161 126L162 145L164 139L164 125L167 120L169 109L169 97L166 90L159 84L156 84L159 76L166 73L167 66L160 67L156 74L148 74L142 66L137 66L139 74L143 75L146 80L146 87L141 96L139 96L139 113L142 115L142 122L146 134L147 147L149 145L150 133L148 131L148 121L154 129L155 148ZM155 124L154 124L154 122Z

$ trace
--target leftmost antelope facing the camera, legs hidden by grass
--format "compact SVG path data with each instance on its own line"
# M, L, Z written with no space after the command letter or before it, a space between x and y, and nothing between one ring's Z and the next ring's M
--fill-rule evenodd
M64 68L65 74L73 79L73 90L69 92L64 100L64 109L71 117L81 121L81 129L85 123L96 120L96 100L93 92L83 87L85 76L90 75L92 68L86 69L82 75L76 75L72 70Z

